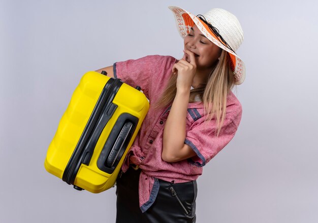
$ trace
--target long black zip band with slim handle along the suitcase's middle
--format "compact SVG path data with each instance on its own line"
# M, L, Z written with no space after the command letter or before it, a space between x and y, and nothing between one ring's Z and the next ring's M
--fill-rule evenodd
M75 147L75 150L69 160L63 173L63 181L73 184L75 177L82 163L89 164L93 154L94 147L117 108L112 101L119 90L122 82L120 79L109 79L93 109L91 116L85 126L85 129ZM79 190L79 187L74 187Z

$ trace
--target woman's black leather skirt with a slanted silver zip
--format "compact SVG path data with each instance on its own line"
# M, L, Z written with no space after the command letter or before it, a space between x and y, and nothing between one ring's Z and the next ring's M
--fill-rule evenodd
M120 173L116 182L117 223L196 222L197 181L173 183L159 180L154 203L142 213L139 207L140 169Z

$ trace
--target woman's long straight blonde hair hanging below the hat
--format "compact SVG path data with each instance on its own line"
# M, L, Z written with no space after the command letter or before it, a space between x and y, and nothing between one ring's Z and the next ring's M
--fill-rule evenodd
M177 93L177 75L171 75L161 97L155 103L155 108L171 105ZM205 121L216 119L216 136L219 135L224 123L227 107L227 95L235 86L233 71L230 66L229 54L222 50L219 61L210 72L208 82L199 88L190 91L189 102L195 102L199 95L204 104Z

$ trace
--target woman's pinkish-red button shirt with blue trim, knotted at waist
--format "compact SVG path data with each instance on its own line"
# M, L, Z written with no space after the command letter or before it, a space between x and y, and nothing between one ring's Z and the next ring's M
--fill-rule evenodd
M226 118L218 137L215 136L215 119L204 122L203 103L188 103L184 143L192 147L197 156L174 163L163 161L163 132L170 107L158 110L151 105L163 92L176 62L171 56L154 55L114 64L115 78L133 87L140 86L150 102L149 111L122 166L124 172L129 168L129 163L139 165L142 170L139 178L139 203L142 212L156 198L158 179L175 183L196 180L202 174L202 166L234 137L241 120L242 107L232 92L227 97Z

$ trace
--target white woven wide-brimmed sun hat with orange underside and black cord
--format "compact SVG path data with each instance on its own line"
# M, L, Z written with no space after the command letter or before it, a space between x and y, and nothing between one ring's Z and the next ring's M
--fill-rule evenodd
M235 53L243 42L243 30L238 19L224 9L211 9L198 16L175 6L170 6L169 9L174 14L182 38L196 24L206 38L229 53L235 84L242 84L245 79L245 65Z

